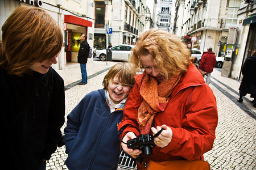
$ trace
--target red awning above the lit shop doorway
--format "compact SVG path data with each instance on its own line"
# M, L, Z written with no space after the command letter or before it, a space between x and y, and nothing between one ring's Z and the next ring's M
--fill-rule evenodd
M89 20L82 19L73 15L65 15L64 22L69 24L79 25L82 27L92 27L92 22L90 22Z

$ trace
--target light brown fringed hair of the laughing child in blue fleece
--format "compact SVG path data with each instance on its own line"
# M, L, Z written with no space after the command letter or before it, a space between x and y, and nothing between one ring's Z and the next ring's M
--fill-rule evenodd
M135 84L135 75L136 73L129 63L117 63L105 75L102 85L105 90L108 90L109 83L113 82L113 79L117 76L120 83L133 87Z

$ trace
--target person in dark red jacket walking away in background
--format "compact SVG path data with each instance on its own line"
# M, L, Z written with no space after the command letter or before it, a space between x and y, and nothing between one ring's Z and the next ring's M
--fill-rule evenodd
M213 68L216 66L216 56L212 52L212 48L208 48L207 52L203 53L201 57L199 69L207 73L205 83L210 84L210 73L212 73Z

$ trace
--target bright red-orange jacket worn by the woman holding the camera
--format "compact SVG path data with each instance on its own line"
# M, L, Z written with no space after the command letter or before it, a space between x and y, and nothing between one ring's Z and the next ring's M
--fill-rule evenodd
M140 134L136 119L142 102L139 88L143 75L135 77L137 83L126 101L123 120L118 125L121 139L129 131ZM194 65L189 65L165 111L157 113L154 122L155 127L169 126L173 136L168 146L154 148L151 160L200 160L205 152L212 150L218 122L216 97Z

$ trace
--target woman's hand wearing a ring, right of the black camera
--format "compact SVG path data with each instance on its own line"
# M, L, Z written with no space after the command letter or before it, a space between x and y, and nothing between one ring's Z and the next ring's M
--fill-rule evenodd
M156 128L152 127L152 133L153 135L155 135L156 133L158 133L159 130L164 129L158 137L154 138L154 143L156 146L158 147L166 147L167 145L169 145L169 143L172 140L172 130L171 128L169 128L166 125L162 125L162 126L156 126Z

